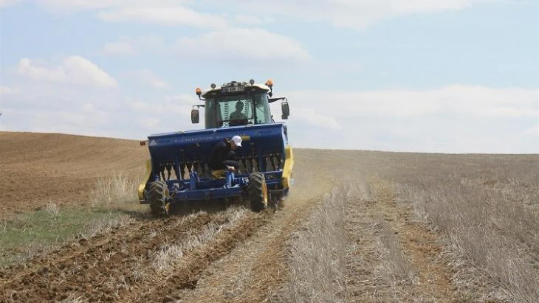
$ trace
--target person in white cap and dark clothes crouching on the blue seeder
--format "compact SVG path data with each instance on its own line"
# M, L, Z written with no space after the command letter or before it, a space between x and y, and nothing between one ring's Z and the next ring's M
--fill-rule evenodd
M241 147L241 137L234 136L231 140L225 138L213 147L213 152L208 160L211 170L230 170L235 172L239 169L239 162L232 160L238 147Z

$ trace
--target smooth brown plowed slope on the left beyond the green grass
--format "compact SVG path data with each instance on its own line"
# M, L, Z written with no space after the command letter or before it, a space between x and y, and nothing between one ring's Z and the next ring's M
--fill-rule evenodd
M0 132L0 220L50 201L85 204L96 180L139 173L147 154L134 140Z

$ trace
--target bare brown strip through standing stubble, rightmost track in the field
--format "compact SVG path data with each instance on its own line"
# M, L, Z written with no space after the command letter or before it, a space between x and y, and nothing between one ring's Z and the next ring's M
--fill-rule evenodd
M366 207L364 214L370 216L368 221L372 227L376 227L371 235L377 236L384 246L386 255L382 266L386 272L383 276L376 276L382 272L375 271L375 277L365 277L366 283L361 285L365 287L365 294L369 293L367 287L371 283L382 280L384 284L388 281L392 283L388 285L393 288L392 294L388 294L392 300L418 298L452 302L454 286L451 276L454 272L440 257L443 246L438 242L436 232L429 230L426 223L415 221L410 206L397 205L395 193L388 182L377 180L373 188L375 199L363 204ZM353 220L358 219L363 220ZM365 268L373 269L371 266Z

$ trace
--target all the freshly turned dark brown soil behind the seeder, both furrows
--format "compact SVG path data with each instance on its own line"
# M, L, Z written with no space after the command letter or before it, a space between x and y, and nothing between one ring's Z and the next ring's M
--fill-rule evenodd
M27 269L17 266L0 273L0 302L52 302L70 295L82 295L89 301L162 302L178 290L194 287L207 266L230 253L271 217L271 210L247 213L209 243L186 251L182 265L164 275L151 269L153 256L162 245L181 243L210 223L222 226L228 219L199 213L183 220L135 222L107 234L106 239L81 239L78 248L65 246L50 259L34 260Z

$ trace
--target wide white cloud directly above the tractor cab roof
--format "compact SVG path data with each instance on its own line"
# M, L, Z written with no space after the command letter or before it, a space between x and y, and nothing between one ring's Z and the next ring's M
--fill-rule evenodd
M197 38L181 38L175 50L184 58L205 60L303 62L311 59L298 40L263 29L227 28Z

